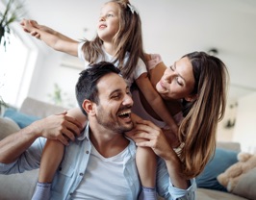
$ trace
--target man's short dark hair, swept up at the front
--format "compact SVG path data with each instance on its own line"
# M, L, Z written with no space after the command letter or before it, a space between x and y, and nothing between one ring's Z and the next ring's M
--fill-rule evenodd
M100 62L90 65L90 68L80 73L75 91L78 105L84 114L88 115L82 108L84 100L99 103L97 83L101 77L109 73L120 74L120 70L113 63Z

